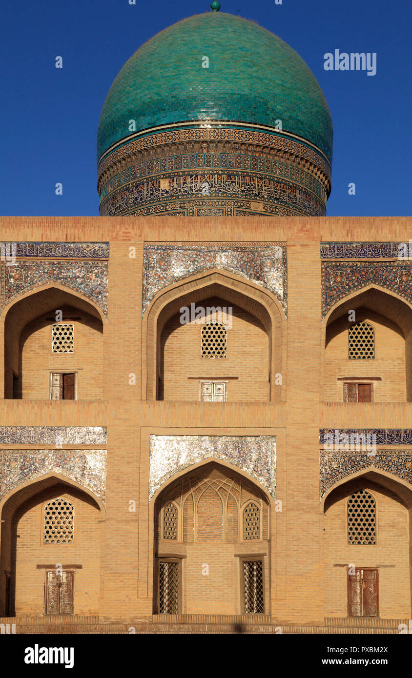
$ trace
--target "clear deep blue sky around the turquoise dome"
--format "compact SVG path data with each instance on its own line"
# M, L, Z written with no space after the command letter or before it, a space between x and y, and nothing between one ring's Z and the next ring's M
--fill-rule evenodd
M96 130L111 83L143 42L209 4L3 0L1 214L98 214ZM328 216L410 215L411 0L221 5L279 35L318 79L335 130ZM376 52L377 74L324 71L323 56L334 49ZM356 195L348 195L350 182Z

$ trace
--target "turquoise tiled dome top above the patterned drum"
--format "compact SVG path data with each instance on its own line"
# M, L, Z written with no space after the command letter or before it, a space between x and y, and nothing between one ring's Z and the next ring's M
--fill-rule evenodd
M134 52L103 104L98 159L130 138L131 119L136 132L202 120L276 127L280 119L283 132L332 157L331 113L310 68L273 33L222 12L183 19Z

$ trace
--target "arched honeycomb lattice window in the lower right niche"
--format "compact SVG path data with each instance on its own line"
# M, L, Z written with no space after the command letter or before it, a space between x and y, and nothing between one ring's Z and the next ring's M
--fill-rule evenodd
M348 543L376 544L376 504L366 490L348 499Z

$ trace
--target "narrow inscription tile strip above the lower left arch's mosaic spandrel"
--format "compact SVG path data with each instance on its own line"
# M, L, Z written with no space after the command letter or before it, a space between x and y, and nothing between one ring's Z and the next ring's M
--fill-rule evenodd
M105 426L0 426L1 445L106 445Z

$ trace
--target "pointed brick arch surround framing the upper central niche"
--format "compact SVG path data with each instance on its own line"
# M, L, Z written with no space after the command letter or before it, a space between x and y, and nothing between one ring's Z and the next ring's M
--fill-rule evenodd
M143 315L142 397L157 399L160 380L160 337L166 322L182 306L190 308L211 297L218 297L240 306L257 317L265 328L269 342L270 400L284 398L284 379L276 384L276 374L286 374L286 316L274 294L244 278L210 269L182 279L159 292Z

